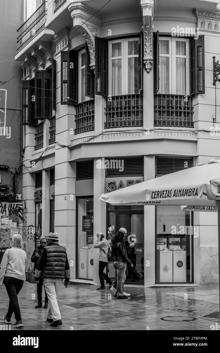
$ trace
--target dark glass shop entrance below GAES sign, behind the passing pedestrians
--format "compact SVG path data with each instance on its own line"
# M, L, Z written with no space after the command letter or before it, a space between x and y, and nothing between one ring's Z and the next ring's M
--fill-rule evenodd
M108 205L107 238L110 244L121 227L127 230L125 245L135 244L132 249L127 250L127 256L134 265L133 268L143 275L142 279L137 282L128 265L125 283L144 283L144 207ZM108 276L115 278L115 270L111 263L108 264Z

